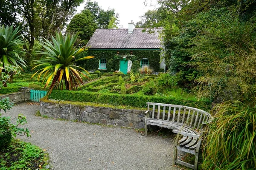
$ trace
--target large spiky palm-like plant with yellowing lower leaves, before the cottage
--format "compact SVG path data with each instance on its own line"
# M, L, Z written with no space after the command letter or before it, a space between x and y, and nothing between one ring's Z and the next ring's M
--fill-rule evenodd
M38 70L40 71L38 79L42 76L42 74L44 74L44 79L47 79L44 88L52 80L52 83L49 87L49 94L54 88L63 90L63 85L65 85L67 90L77 90L80 84L83 85L83 80L80 75L87 77L81 71L75 69L80 68L81 70L84 70L84 68L81 68L74 63L93 57L88 56L82 57L80 59L75 59L77 55L88 49L85 47L78 50L75 49L74 43L76 42L77 37L78 34L75 34L73 36L67 34L66 36L63 36L61 33L58 34L56 32L56 39L52 36L52 43L49 42L49 40L47 39L44 39L45 41L41 43L45 50L38 51L38 53L44 54L47 57L45 59L35 60L32 65L36 66L32 68L32 70L37 68L38 66L46 65L45 68ZM37 74L38 71L35 72L35 74ZM35 74L33 76L35 76Z

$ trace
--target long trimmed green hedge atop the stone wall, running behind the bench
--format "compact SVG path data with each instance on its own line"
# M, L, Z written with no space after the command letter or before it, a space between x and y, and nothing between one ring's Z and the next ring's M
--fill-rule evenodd
M185 105L209 111L211 102L209 100L192 100L177 97L139 96L94 93L86 91L52 91L49 99L65 100L72 102L95 102L110 105L128 105L138 108L146 108L146 102L171 103L173 105Z

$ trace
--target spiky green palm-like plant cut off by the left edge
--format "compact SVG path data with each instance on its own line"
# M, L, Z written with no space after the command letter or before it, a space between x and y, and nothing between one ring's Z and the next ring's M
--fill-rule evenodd
M19 27L13 30L13 26L0 26L0 65L14 65L22 70L26 67L25 61L19 56L24 52L22 46L26 45Z

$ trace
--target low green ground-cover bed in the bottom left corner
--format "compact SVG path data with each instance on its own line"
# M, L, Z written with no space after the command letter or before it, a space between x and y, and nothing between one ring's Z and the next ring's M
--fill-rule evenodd
M41 148L19 140L0 150L1 170L46 170L47 159Z

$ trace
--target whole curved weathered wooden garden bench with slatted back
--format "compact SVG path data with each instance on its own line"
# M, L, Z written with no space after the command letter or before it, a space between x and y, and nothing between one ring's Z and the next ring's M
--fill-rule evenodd
M212 121L212 116L206 111L187 106L151 102L147 102L147 105L145 136L148 125L172 129L173 133L177 133L173 163L197 170L202 129L206 123ZM179 140L180 135L183 137ZM177 159L177 150L195 155L195 164Z

